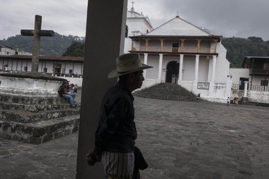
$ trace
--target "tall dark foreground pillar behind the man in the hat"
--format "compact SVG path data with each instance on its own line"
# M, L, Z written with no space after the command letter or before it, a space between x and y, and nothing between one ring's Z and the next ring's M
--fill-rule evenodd
M116 68L116 57L123 54L126 13L127 0L107 1L105 6L102 1L88 1L85 59L92 60L84 61L83 65L83 76L87 80L82 83L77 179L105 178L102 163L90 167L85 156L94 148L102 98L117 83L117 78L109 79L107 75ZM109 28L104 28L104 25ZM96 53L100 49L106 50Z

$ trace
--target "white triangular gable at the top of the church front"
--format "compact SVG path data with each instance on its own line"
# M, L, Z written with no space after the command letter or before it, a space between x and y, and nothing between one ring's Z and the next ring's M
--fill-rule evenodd
M181 19L179 16L167 21L145 35L212 36L210 33Z

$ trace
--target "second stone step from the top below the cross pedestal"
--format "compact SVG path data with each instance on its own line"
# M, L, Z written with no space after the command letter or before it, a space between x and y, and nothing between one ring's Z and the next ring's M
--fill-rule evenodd
M56 109L68 109L71 104L25 104L25 103L8 103L0 101L0 109L10 109L28 112L40 112ZM75 103L76 107L80 107L80 103Z

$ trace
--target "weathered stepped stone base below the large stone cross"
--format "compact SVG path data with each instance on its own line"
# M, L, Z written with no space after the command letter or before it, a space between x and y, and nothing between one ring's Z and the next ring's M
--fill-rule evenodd
M60 97L22 97L0 94L0 137L41 144L76 132L80 103L70 108Z

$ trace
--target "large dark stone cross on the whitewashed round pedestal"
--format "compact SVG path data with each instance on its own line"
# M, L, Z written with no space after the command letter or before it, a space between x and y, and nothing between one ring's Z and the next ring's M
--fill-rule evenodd
M38 62L39 62L39 50L40 50L40 37L47 36L53 37L53 30L41 30L42 16L36 15L34 30L21 30L20 33L26 36L34 36L33 40L33 56L32 56L32 72L38 72Z

